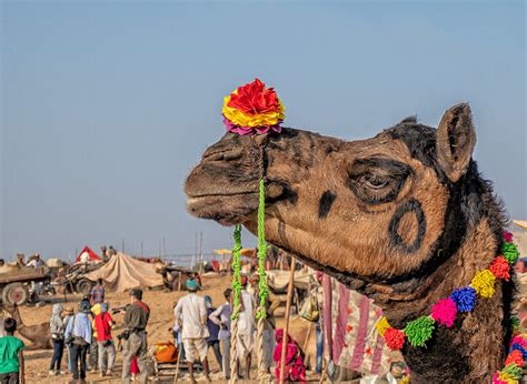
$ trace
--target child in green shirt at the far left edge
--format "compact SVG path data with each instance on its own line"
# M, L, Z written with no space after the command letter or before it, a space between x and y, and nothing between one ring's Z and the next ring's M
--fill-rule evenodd
M14 337L17 321L8 317L3 321L6 336L0 337L0 382L7 384L24 384L23 342Z

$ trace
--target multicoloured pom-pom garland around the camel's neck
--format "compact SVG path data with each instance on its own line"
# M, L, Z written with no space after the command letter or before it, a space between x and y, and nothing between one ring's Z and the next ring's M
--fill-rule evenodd
M468 286L459 287L449 297L440 299L431 307L430 315L420 316L406 324L405 329L392 327L386 317L381 317L376 326L385 337L386 345L398 351L406 341L412 346L425 346L432 336L436 326L451 327L458 313L471 312L476 306L477 296L490 299L495 293L497 280L509 281L510 267L518 260L519 252L513 243L513 234L504 233L500 254L496 256L488 269L476 273ZM517 384L521 378L523 367L527 360L527 338L518 333L518 320L513 319L513 338L505 366L493 376L494 384Z

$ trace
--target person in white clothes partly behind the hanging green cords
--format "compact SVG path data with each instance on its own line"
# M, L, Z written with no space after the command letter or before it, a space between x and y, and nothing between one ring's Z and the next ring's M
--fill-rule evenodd
M240 313L238 316L238 334L236 352L238 358L245 357L245 380L250 380L251 353L255 345L255 296L247 292L247 276L241 276ZM241 362L239 364L241 366ZM239 374L238 374L239 375Z

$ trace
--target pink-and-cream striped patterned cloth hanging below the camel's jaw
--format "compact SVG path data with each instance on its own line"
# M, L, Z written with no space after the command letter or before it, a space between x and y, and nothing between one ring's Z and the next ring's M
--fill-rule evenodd
M322 289L326 360L362 374L387 372L389 350L385 340L372 332L382 311L328 275L322 277Z

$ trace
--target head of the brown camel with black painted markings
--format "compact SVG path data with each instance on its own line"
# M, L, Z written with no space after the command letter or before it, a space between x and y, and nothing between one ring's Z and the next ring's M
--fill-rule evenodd
M188 211L256 233L264 175L270 243L352 289L401 282L451 255L480 219L488 185L475 143L468 104L437 129L407 118L358 141L289 128L227 133L188 176Z

